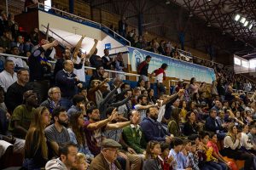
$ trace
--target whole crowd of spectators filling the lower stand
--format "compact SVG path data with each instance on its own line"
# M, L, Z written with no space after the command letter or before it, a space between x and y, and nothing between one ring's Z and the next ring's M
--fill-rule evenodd
M137 87L131 87L121 77L110 81L105 70L122 69L122 57L110 58L108 49L96 55L97 40L84 54L82 36L57 57L56 40L39 40L38 29L23 38L10 22L14 18L1 13L1 53L27 58L1 56L0 168L3 158L21 153L28 170L235 170L236 160L245 161L245 170L256 169L256 94L233 93L234 87L254 90L246 79L214 68L212 87L191 77L166 94L168 65L149 74L148 56ZM56 60L55 68L49 60ZM96 67L88 87L85 63Z

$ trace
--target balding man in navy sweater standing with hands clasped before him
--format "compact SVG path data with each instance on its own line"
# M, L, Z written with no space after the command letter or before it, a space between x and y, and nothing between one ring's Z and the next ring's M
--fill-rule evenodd
M56 86L61 89L61 106L68 110L72 106L73 95L82 88L79 78L73 73L73 62L65 60L64 69L56 74Z

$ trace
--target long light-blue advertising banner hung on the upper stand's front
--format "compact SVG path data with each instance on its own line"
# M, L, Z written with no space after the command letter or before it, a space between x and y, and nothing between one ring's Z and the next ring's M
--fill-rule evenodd
M137 71L137 65L141 63L147 55L150 55L148 72L160 68L163 63L168 65L166 77L176 77L180 79L190 80L195 77L198 82L212 83L216 79L214 70L202 65L185 62L178 59L172 59L160 54L154 54L142 49L127 47L129 50L129 59L131 63L131 71Z

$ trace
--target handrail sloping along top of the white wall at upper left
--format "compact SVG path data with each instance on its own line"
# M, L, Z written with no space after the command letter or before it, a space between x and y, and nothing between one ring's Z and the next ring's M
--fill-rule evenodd
M44 10L44 8L41 8L42 6L44 6L44 7L46 7L46 8L52 8L52 7L49 7L48 5L44 5L43 3L38 3L38 8ZM108 31L112 31L114 37L121 37L123 40L125 40L125 42L128 42L128 44L131 46L131 42L130 42L130 41L128 41L125 37L120 36L116 31L111 30L110 28L108 28L108 26L105 26L104 24L98 23L98 22L93 21L93 20L85 19L85 18L80 17L80 16L75 15L75 14L70 14L70 13L68 13L68 12L66 12L66 11L63 11L63 10L61 10L61 9L58 9L58 8L52 8L52 9L59 11L61 14L67 14L67 15L73 17L73 18L76 18L76 19L79 19L79 20L85 20L85 21L87 21L87 22L96 24L97 26L100 26L101 29L102 29L102 28L105 28L105 29L107 29Z

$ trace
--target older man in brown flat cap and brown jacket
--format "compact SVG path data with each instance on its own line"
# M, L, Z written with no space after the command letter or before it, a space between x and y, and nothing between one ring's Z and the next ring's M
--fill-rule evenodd
M113 139L102 141L101 152L91 161L90 170L122 169L117 161L118 150L121 145Z

